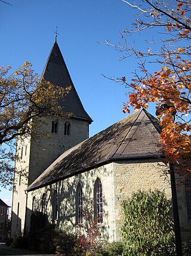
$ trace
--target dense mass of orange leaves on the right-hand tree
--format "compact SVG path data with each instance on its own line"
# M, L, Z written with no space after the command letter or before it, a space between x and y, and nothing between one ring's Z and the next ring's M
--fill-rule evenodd
M153 76L133 79L128 101L135 110L147 108L150 102L168 106L163 110L158 107L158 117L163 127L160 141L166 158L172 162L180 161L183 155L191 152L191 63L181 59L179 53L184 52L184 47L177 49L178 59L174 66L164 61L164 66ZM128 112L128 108L124 107L123 112Z

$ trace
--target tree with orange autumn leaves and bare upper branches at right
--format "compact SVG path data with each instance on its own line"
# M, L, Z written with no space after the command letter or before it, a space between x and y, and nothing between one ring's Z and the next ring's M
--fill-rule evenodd
M147 109L149 103L155 103L156 114L161 118L163 127L160 141L165 156L177 165L186 155L190 159L191 151L191 3L189 0L141 0L136 5L133 1L121 1L138 12L133 28L121 33L124 44L114 45L109 41L106 44L122 52L122 59L134 55L141 71L135 71L131 82L125 76L113 79L122 82L128 89L128 102L122 110L129 113L130 106L135 110L141 107ZM135 43L133 46L129 43L129 36L143 33L146 29L150 29L150 35L152 30L159 31L162 38L150 38L150 42L148 39L147 50L136 49ZM158 44L159 50L152 50L152 44ZM149 73L148 59L152 65L158 65L155 73ZM188 159L186 164L181 164L181 175L187 176L187 173L191 174Z

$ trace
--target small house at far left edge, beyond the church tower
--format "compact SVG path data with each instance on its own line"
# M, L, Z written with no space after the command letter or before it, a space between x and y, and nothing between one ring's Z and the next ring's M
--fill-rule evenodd
M0 242L4 242L8 237L8 206L0 198Z

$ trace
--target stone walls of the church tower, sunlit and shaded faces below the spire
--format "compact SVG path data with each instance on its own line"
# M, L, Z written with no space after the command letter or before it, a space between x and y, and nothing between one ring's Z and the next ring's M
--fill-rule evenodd
M52 133L51 117L39 120L36 129L40 133L49 134L35 140L29 138L18 138L16 154L17 171L24 169L25 176L16 174L14 185L16 191L13 193L13 207L11 216L11 236L24 231L26 215L26 193L25 189L39 176L61 153L88 138L88 122L79 119L58 120L57 133ZM70 123L69 135L64 135L64 124ZM42 132L41 132L42 133ZM20 182L19 182L20 180ZM17 216L19 203L19 217Z

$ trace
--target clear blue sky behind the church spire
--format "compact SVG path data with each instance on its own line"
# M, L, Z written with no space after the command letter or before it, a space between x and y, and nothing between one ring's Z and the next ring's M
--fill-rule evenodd
M90 135L127 116L121 111L122 103L127 101L124 86L101 74L125 76L130 81L137 60L119 61L121 55L115 48L97 42L107 39L118 44L119 31L131 29L133 9L120 0L7 1L12 5L0 2L1 66L11 65L15 70L27 60L41 74L58 26L58 45L82 104L94 120ZM150 35L144 32L129 40L135 40L137 49L146 50L144 40ZM149 112L154 115L155 109ZM2 189L0 197L10 203L11 193Z

